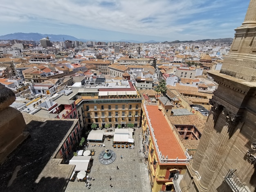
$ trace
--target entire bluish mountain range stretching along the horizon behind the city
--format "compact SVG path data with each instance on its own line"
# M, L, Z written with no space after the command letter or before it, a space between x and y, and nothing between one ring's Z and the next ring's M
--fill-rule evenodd
M7 35L0 36L0 40L34 40L34 41L40 41L42 38L48 37L50 41L63 41L63 40L72 40L72 41L97 41L97 40L86 40L86 39L78 39L73 36L69 35L53 35L53 34L40 34L40 33L10 33ZM192 43L192 42L216 42L216 43L231 43L233 41L233 38L222 38L222 39L204 39L204 40L195 40L195 41L179 41L175 40L172 42L165 41L163 43ZM101 42L109 42L108 40L104 40ZM135 42L135 43L140 43L140 41L136 40L125 40L121 39L116 42ZM149 41L144 41L144 43L157 43L159 41L155 40L149 40ZM143 42L142 42L143 43Z

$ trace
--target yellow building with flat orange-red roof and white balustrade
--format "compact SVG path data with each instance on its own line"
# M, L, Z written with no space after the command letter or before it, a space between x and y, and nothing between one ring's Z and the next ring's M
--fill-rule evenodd
M190 157L173 133L163 109L157 103L144 102L141 119L142 152L148 165L152 192L175 192L178 191Z

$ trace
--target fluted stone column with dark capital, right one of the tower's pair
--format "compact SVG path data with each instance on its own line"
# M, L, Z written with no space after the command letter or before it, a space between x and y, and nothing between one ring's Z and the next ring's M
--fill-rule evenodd
M226 116L226 123L223 126L222 131L220 132L218 142L214 147L212 156L209 158L207 166L205 167L201 175L201 180L199 182L200 186L205 190L207 190L207 188L209 187L209 183L212 180L213 174L218 167L220 159L222 158L225 147L229 141L229 133L233 132L234 127L236 127L239 119L238 116L227 111L227 109L223 109L222 114Z

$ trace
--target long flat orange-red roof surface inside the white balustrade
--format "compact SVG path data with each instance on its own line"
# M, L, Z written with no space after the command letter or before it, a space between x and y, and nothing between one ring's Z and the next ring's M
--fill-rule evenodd
M162 152L162 155L165 157L168 155L168 159L176 159L177 157L178 159L186 159L184 151L174 136L162 111L158 109L157 105L147 105L146 109L154 129L159 151Z

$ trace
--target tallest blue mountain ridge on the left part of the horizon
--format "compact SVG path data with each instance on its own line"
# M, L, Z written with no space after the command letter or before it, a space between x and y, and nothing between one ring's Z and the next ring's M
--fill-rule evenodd
M68 35L53 35L53 34L40 34L40 33L11 33L7 35L0 36L0 40L34 40L40 41L40 39L49 37L51 41L63 41L65 40L72 40L72 41L81 41L78 38Z

